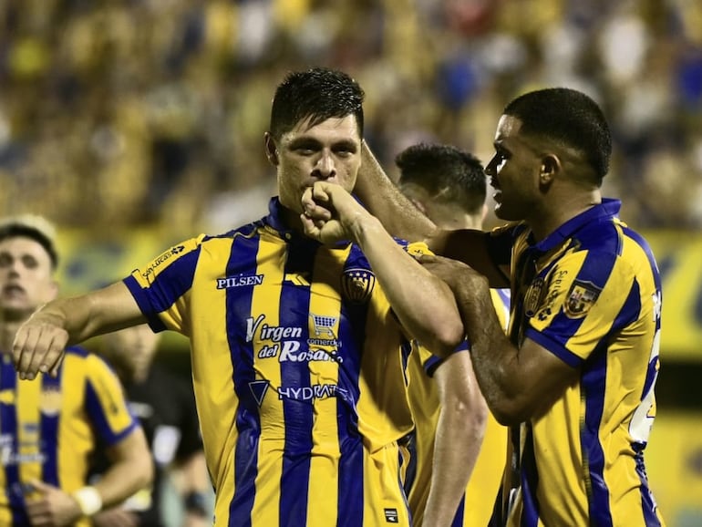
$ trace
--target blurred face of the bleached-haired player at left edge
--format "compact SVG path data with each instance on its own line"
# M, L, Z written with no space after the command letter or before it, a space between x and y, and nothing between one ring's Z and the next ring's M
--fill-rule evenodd
M0 242L0 316L24 320L56 295L51 259L40 243L24 236Z

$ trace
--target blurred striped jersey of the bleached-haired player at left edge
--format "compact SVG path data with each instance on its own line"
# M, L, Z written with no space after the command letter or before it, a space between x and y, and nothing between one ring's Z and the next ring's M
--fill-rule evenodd
M103 359L69 347L57 377L19 380L0 358L0 525L28 526L31 480L66 492L86 484L96 443L114 445L137 426ZM79 527L90 525L87 520Z

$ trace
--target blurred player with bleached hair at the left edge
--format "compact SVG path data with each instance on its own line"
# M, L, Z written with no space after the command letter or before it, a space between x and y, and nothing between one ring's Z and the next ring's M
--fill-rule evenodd
M57 264L53 226L46 220L0 222L0 525L87 526L102 507L151 479L143 431L101 358L68 347L53 377L28 382L15 372L15 333L57 296ZM98 440L110 463L91 486L88 457Z

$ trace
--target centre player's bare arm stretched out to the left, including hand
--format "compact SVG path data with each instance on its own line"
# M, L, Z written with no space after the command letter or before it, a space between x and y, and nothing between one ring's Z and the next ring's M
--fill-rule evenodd
M139 305L121 282L88 294L59 298L36 311L15 336L13 357L20 378L56 374L66 346L91 336L145 322Z

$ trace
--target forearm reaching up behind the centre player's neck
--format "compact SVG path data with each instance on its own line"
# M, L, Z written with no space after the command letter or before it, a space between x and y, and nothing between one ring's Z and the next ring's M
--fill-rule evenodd
M437 231L436 225L419 212L378 163L366 141L362 146L361 169L358 171L354 193L366 209L375 215L388 233L416 242Z

